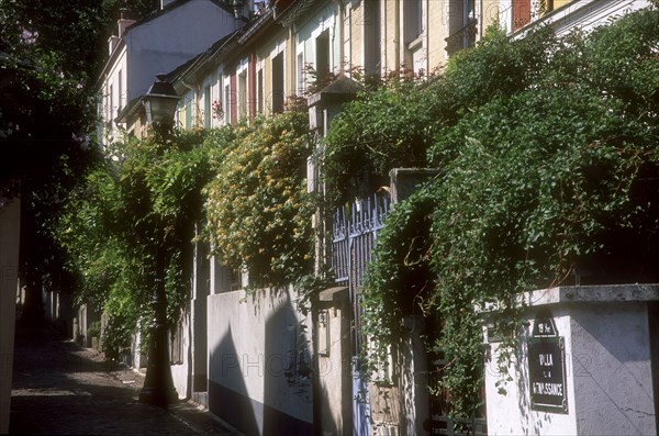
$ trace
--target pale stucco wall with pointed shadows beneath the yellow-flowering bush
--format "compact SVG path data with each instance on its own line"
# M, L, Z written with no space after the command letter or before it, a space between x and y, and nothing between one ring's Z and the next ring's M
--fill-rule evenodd
M244 434L311 434L310 320L292 290L209 297L209 409Z

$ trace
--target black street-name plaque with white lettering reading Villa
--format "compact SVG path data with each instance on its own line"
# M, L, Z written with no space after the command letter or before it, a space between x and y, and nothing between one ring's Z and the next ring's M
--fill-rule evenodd
M568 413L565 343L548 313L536 317L527 346L530 409Z

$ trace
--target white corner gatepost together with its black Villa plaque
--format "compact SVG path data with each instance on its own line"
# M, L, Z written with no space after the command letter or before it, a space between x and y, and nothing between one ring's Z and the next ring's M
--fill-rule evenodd
M489 433L657 434L659 284L560 287L523 299L506 373L500 338L483 328Z

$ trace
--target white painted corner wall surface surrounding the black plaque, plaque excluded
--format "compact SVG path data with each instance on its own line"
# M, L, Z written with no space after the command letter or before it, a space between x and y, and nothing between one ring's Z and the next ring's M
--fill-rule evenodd
M568 287L536 291L520 335L512 381L496 369L498 344L485 362L489 434L650 435L656 434L649 301L657 287ZM548 308L565 338L568 413L530 410L527 338L539 308ZM485 335L487 336L487 335ZM656 340L656 338L654 338Z

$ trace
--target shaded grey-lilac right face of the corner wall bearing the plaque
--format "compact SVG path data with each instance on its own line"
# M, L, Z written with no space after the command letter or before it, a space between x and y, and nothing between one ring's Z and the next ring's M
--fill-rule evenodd
M656 434L647 305L602 303L570 315L578 433Z

